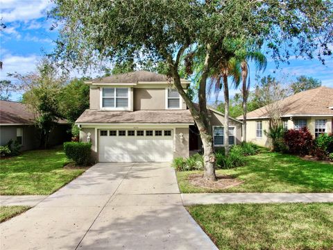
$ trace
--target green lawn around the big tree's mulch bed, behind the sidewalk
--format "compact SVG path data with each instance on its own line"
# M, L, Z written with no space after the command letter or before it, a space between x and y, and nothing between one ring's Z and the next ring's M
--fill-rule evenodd
M220 169L217 174L228 174L244 183L224 189L212 190L191 185L189 174L177 172L178 185L183 193L192 192L333 192L333 165L302 160L297 156L262 151L247 156L248 163L235 169Z

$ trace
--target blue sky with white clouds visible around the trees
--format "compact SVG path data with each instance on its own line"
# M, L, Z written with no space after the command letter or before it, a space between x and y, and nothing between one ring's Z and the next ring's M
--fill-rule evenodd
M54 47L58 31L50 31L51 20L46 12L52 3L48 0L0 0L0 17L6 28L0 31L0 60L3 70L0 79L8 79L7 73L21 74L33 72L35 63L44 51ZM281 64L278 69L268 58L268 67L262 75L272 74L281 81L293 81L300 75L312 76L321 80L322 85L333 88L333 58L326 58L326 65L318 60L305 60L291 57L289 65ZM255 83L255 70L251 69L251 81ZM79 74L76 74L79 76ZM10 79L10 78L9 78ZM239 90L232 90L233 95ZM222 98L222 95L220 95ZM19 94L13 95L18 99Z

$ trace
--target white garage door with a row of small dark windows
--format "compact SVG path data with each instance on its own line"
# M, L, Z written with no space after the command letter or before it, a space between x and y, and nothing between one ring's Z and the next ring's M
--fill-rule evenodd
M100 162L169 162L173 159L171 129L101 129Z

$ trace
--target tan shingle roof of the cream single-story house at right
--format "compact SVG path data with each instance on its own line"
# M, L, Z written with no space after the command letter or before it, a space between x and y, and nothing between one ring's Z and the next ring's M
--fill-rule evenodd
M282 100L282 117L333 116L333 88L319 87L293 94ZM266 106L247 114L247 119L267 118ZM243 116L237 117L243 119Z

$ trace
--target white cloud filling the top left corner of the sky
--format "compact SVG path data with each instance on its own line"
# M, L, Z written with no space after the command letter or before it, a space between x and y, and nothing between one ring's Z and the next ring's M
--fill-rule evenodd
M26 22L45 17L52 5L49 0L0 0L2 22Z

